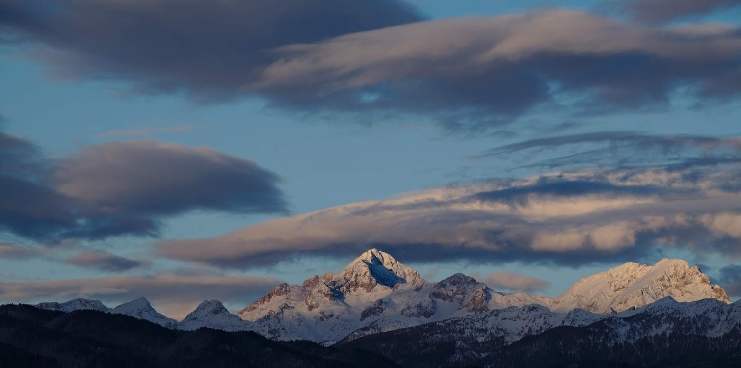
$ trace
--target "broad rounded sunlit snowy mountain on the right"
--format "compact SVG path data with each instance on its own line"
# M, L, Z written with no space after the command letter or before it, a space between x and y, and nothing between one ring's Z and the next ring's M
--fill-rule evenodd
M582 278L551 304L551 310L582 308L591 312L621 312L643 307L671 296L677 301L714 298L726 304L728 295L697 266L689 267L681 259L662 259L654 266L628 262L597 275Z

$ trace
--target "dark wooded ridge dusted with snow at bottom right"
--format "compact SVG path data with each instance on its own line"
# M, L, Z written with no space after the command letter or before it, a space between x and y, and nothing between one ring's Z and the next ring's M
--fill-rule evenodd
M726 304L712 298L679 302L666 297L609 315L580 309L551 312L530 305L388 332L367 334L366 329L353 332L338 348L362 347L405 367L562 367L574 359L593 361L587 367L600 367L594 363L600 359L654 367L662 359L677 361L677 355L697 359L702 354L712 358L737 352L741 302ZM542 356L545 361L523 363L524 356ZM674 367L660 365L669 366Z

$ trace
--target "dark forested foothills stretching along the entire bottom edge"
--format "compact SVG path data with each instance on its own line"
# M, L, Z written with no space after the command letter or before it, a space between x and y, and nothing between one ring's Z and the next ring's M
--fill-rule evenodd
M525 307L519 319L494 311L322 347L255 332L167 329L95 310L9 304L0 306L0 367L735 368L741 367L739 307L665 300L588 325L512 335L505 322L545 321L550 313Z

